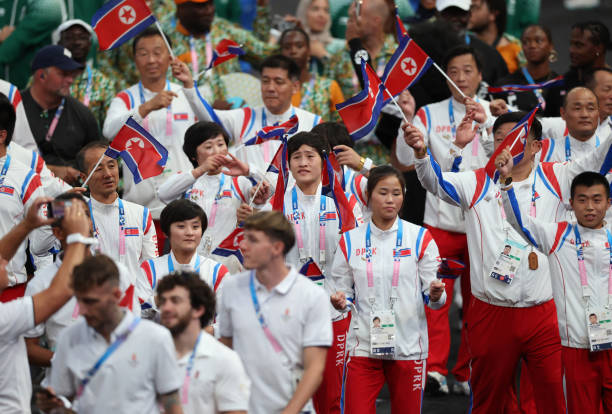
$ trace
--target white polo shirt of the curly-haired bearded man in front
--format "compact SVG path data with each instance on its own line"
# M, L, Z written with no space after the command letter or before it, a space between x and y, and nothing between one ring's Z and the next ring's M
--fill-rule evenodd
M179 359L183 378L191 352ZM240 357L230 348L202 331L196 348L187 392L187 404L181 402L185 414L216 414L225 411L247 411L251 380Z

